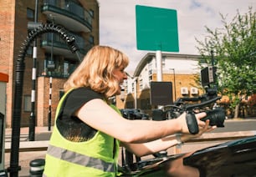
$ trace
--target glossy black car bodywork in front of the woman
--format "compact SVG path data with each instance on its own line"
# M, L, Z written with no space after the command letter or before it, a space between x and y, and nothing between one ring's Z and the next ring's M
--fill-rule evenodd
M231 140L223 144L199 149L187 156L183 163L204 169L207 177L256 176L256 136ZM164 176L161 166L169 160L182 158L184 154L172 154L154 159L123 164L121 176ZM126 162L125 162L126 163Z

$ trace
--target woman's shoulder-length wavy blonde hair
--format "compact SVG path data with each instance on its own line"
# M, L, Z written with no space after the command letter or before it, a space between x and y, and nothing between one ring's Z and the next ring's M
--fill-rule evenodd
M89 87L107 99L119 89L113 70L126 68L128 63L129 58L125 53L108 46L95 46L64 83L64 90L66 92L70 88Z

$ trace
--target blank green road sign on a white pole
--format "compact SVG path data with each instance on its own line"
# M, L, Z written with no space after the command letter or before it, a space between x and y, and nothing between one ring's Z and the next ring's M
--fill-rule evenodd
M137 49L179 52L177 11L136 5Z

